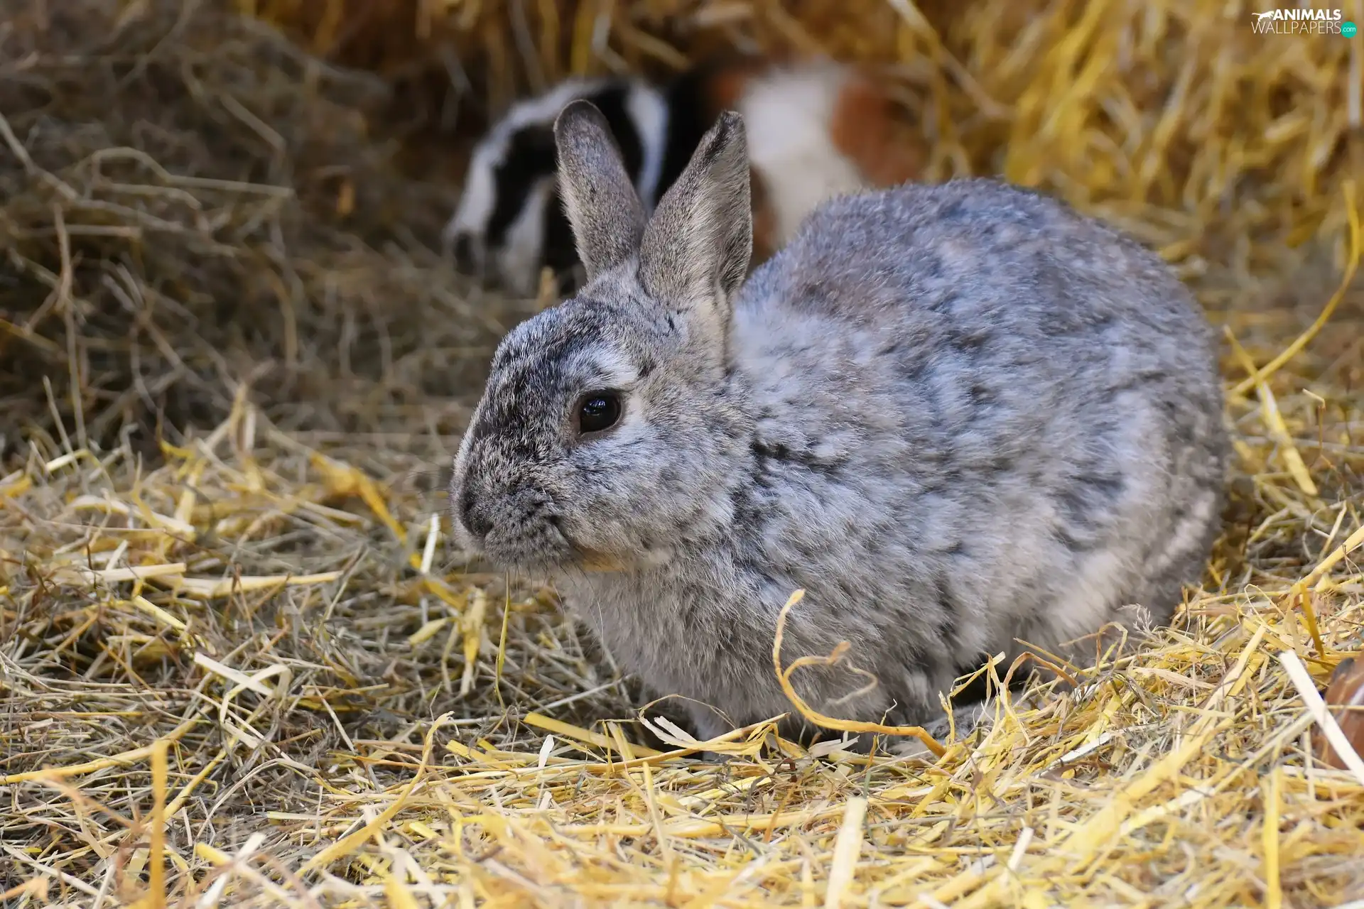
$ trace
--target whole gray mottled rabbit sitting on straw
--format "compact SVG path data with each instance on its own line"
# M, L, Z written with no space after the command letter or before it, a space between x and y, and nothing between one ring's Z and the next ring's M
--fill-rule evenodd
M986 179L821 204L745 281L726 113L647 217L587 101L554 124L588 283L514 328L454 461L456 538L548 575L696 732L791 713L941 728L1016 639L1169 620L1221 526L1211 333L1163 262ZM868 684L874 676L874 684Z

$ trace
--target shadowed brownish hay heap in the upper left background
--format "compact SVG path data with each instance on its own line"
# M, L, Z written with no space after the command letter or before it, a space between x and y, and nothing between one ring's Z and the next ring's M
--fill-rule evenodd
M10 451L20 429L56 432L42 376L72 439L105 448L211 427L243 382L271 388L284 427L458 432L525 311L472 294L413 238L453 194L401 177L396 143L370 138L386 86L211 8L109 5L56 4L3 35Z

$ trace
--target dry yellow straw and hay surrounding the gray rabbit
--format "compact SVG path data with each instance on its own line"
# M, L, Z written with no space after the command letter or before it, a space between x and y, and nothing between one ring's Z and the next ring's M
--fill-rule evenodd
M1203 590L940 758L760 726L704 762L432 523L427 478L528 305L431 251L453 195L397 169L386 86L214 4L11 3L0 902L1364 899L1364 773L1309 758L1364 624L1364 38L1254 35L1207 0L420 8L430 41L393 44L491 74L466 110L708 44L885 63L930 179L1001 170L1159 248L1229 334ZM331 49L359 15L311 10L289 23Z

